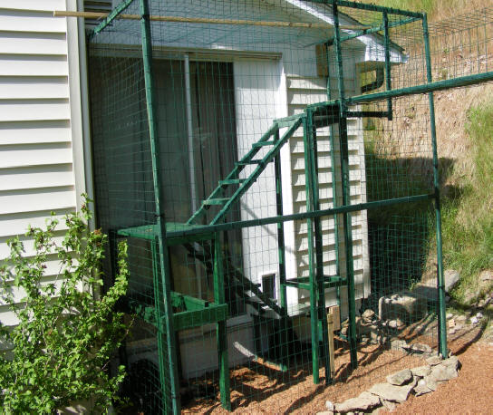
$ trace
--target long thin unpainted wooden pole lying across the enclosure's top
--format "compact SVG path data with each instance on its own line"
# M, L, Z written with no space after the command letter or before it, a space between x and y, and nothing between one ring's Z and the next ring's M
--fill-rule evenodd
M96 12L70 12L64 10L55 10L54 17L85 17L86 19L104 19L108 17L107 13ZM140 20L140 14L119 14L116 19L124 20ZM180 17L167 15L149 16L149 20L153 22L169 22L169 23L191 23L191 24L231 24L231 25L250 25L250 26L267 26L267 27L295 27L302 29L326 29L333 30L331 24L325 23L300 23L300 22L264 22L257 20L235 20L235 19L209 19L205 17ZM363 30L372 26L367 25L348 25L340 26L341 29L347 30Z

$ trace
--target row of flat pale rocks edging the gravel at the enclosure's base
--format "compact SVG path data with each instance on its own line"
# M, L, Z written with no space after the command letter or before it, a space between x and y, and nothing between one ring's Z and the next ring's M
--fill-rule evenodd
M357 398L340 403L326 402L327 410L317 415L332 415L333 413L376 413L384 408L394 410L398 403L406 401L411 393L416 396L435 391L440 383L457 378L460 367L456 356L441 360L432 356L428 364L387 376L385 383L373 385L369 391L364 391Z

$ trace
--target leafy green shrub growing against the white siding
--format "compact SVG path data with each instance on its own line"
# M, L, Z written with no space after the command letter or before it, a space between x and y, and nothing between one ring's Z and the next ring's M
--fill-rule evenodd
M108 369L128 332L122 314L115 312L128 285L127 247L119 246L114 285L96 295L107 236L89 230L90 217L87 205L81 214L67 215L61 243L54 238L58 221L53 216L43 229L30 227L26 236L34 240L34 256L26 256L19 237L8 241L10 256L0 265L0 301L18 323L0 323L2 413L53 413L81 400L92 400L94 410L104 412L116 396L124 368L114 377ZM60 261L58 282L45 284L46 262L53 256Z

